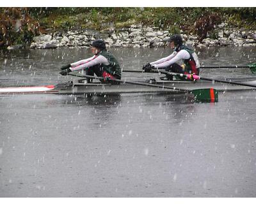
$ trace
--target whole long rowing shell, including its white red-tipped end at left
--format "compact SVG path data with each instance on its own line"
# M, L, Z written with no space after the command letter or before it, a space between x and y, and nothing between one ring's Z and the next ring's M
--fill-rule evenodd
M231 80L231 79L230 79ZM232 82L243 82L247 85L256 85L255 78L236 78L232 79ZM148 83L148 81L147 81ZM90 83L84 84L84 82L68 82L65 84L57 85L44 85L35 87L3 87L0 88L0 94L120 94L120 93L179 93L176 89L186 89L192 91L195 89L216 89L218 91L245 91L255 89L253 87L246 87L243 85L223 84L220 82L208 82L205 80L197 80L195 82L182 81L182 80L150 80L150 84L162 85L159 87L147 87L145 85L135 84L101 84ZM164 89L164 86L173 87L173 89Z

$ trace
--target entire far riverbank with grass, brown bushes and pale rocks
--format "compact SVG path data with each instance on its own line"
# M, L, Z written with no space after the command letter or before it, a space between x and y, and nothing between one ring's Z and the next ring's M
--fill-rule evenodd
M97 38L163 47L173 33L192 47L256 43L255 8L1 8L0 16L0 48L10 50L88 47Z

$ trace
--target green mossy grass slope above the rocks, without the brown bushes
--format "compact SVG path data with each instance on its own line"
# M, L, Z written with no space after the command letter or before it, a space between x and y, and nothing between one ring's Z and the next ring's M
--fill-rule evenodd
M216 13L230 26L256 27L256 8L47 8L38 13L40 24L54 29L108 29L131 24L186 29L205 15Z

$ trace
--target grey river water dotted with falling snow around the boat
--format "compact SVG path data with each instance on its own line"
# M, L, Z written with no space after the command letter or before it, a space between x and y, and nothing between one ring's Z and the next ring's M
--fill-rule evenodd
M168 48L111 50L122 68ZM205 65L255 62L256 48L198 50ZM72 80L58 75L84 49L1 53L0 86ZM252 76L204 69L204 76ZM150 74L124 73L135 80ZM51 94L0 97L0 197L255 197L256 92L218 103L183 96Z

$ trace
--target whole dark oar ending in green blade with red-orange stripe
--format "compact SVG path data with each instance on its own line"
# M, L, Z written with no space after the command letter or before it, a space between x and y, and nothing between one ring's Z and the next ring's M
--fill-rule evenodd
M93 77L90 75L80 75L80 74L73 74L73 73L68 73L70 76L74 77L82 77L82 78L93 78L97 80L105 80L103 77ZM192 93L195 97L195 101L199 102L218 102L218 91L216 89L195 89L192 91L188 91L186 89L178 89L176 87L169 87L165 85L157 85L157 84L148 84L148 83L143 83L143 82L132 82L132 81L127 81L127 80L120 80L120 79L111 79L108 78L107 80L109 81L114 81L114 82L120 82L122 84L135 84L135 85L145 85L147 87L157 87L161 89L171 89L173 91L180 91L180 92L186 92L186 93Z

